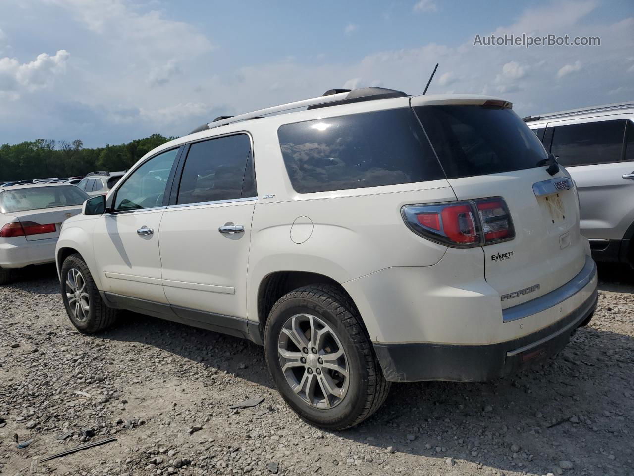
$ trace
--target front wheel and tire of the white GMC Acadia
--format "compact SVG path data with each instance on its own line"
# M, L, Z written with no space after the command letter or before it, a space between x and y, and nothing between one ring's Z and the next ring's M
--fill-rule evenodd
M61 265L61 298L70 322L82 333L103 331L117 319L117 310L103 303L93 275L79 254L68 256Z

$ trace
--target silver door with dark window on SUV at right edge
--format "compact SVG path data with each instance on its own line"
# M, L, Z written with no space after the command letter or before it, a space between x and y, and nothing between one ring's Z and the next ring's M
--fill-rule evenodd
M551 152L578 187L581 231L620 240L634 221L634 124L630 115L550 122ZM624 147L623 138L627 143Z

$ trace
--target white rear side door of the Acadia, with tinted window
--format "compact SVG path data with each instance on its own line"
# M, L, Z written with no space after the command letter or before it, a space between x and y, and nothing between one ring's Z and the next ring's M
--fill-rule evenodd
M165 209L159 232L165 294L181 317L224 326L223 316L247 315L252 158L246 134L188 150L176 203Z

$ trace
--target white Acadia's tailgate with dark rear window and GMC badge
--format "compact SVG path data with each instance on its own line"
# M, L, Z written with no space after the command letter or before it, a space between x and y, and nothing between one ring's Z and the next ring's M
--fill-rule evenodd
M536 165L547 152L515 112L483 105L415 110L458 200L501 197L507 203L514 239L482 247L486 281L502 298L514 295L502 299L502 308L572 279L585 264L573 183L563 169L551 176Z

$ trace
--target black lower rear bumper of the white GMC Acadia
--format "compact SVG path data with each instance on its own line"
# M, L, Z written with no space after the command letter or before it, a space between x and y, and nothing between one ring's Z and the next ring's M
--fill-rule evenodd
M566 347L571 334L585 324L597 308L597 267L590 261L586 268L562 288L576 286L576 294L590 291L581 305L550 326L522 336L488 345L453 345L443 343L375 343L374 348L389 381L488 381L512 374L522 367L540 362ZM588 287L592 289L588 289ZM555 290L558 291L558 290ZM554 291L553 291L554 292ZM549 293L550 294L550 293ZM574 299L574 294L565 300ZM550 301L548 302L548 299ZM529 303L536 309L545 303L553 305L552 296L541 296ZM562 302L555 308L562 308ZM529 304L526 303L526 304ZM560 307L561 306L561 307ZM524 315L524 317L529 317ZM500 325L507 325L502 324Z

